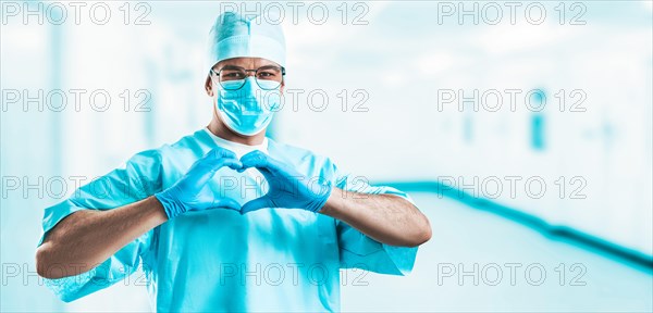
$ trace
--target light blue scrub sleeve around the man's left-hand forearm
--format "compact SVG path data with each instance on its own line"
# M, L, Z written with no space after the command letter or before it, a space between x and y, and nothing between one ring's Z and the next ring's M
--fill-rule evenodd
M65 201L47 208L44 214L42 243L48 231L60 221L79 210L111 210L143 200L161 188L161 155L148 150L134 155L127 163L75 190ZM136 272L150 250L153 230L127 243L93 270L59 279L44 278L46 286L65 302L107 288ZM53 265L50 271L62 271Z

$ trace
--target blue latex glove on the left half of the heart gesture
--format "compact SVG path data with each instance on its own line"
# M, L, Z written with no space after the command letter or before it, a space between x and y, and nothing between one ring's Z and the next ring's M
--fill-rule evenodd
M215 148L197 160L190 170L172 187L156 193L168 218L173 218L188 211L202 211L213 208L241 210L233 199L221 198L219 192L211 190L209 183L215 172L223 166L239 170L243 164L236 154L227 149Z

